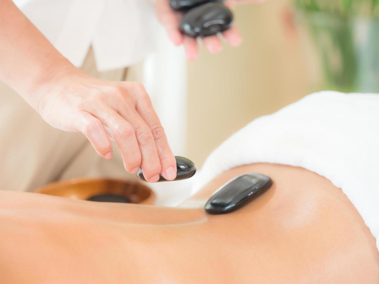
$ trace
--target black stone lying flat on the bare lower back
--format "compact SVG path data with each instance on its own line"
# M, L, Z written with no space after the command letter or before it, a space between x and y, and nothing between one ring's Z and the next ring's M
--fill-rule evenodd
M259 173L238 176L213 193L205 204L209 214L226 214L244 206L272 185L271 178Z

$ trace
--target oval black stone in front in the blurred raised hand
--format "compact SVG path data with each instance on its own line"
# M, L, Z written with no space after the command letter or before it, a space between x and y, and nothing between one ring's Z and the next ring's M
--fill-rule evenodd
M212 36L226 31L233 23L233 14L221 3L207 3L186 12L180 21L180 31L191 37Z

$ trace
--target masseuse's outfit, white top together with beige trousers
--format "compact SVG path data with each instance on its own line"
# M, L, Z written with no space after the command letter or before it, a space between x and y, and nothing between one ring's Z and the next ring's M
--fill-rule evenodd
M154 49L152 30L158 23L150 0L14 2L66 58L89 75L141 81L138 68L126 72L125 67ZM83 134L52 128L1 81L0 133L0 190L33 191L52 181L81 176L135 178L125 171L117 145L113 143L111 160L101 158Z

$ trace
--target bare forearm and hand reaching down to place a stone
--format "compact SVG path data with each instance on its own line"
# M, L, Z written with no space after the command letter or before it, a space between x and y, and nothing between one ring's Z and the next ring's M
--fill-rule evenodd
M160 173L176 177L175 157L144 87L86 75L12 0L0 0L0 80L50 125L85 134L100 156L112 158L110 137L116 140L128 172L141 165L147 181L158 181Z

